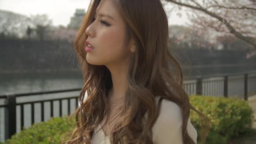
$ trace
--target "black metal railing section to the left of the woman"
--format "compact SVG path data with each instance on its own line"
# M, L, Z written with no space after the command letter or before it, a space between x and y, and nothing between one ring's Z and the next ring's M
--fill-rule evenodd
M53 102L58 101L59 102L59 117L63 116L63 109L62 109L62 103L64 100L67 100L67 115L70 114L71 110L71 100L74 99L75 107L78 105L78 95L76 96L66 96L64 98L58 98L58 99L44 99L44 100L34 100L34 101L27 101L27 102L20 102L17 103L16 99L19 97L24 97L24 96L35 96L35 95L43 95L43 94L54 94L54 93L67 93L67 92L74 92L74 91L80 91L81 88L75 88L75 89L68 89L68 90L59 90L59 91L43 91L43 92L33 92L33 93L6 93L3 96L0 96L1 99L5 99L5 104L0 104L0 109L3 109L3 115L0 113L0 117L4 117L4 124L2 124L4 128L4 139L10 138L14 133L17 131L17 112L20 113L20 118L19 118L19 123L20 123L20 130L24 128L24 120L26 117L24 117L24 106L30 105L30 124L32 125L35 123L35 104L40 104L40 121L45 121L45 103L49 102L50 104L50 117L53 117ZM19 110L17 108L19 107ZM26 121L28 121L26 119ZM0 124L1 125L1 124ZM0 130L1 131L1 130ZM1 131L0 133L3 133Z

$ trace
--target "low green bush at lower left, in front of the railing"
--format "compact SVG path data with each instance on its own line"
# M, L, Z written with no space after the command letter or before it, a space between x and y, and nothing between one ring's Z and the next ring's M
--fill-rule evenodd
M70 123L75 123L74 119ZM67 116L51 118L47 122L35 123L14 134L3 144L60 144L64 133L74 128Z

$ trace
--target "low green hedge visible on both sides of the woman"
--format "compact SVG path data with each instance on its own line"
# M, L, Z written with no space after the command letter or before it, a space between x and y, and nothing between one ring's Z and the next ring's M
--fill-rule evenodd
M206 144L226 144L251 128L252 109L247 101L235 98L212 96L189 96L191 104L211 120L211 128ZM200 140L200 119L191 110L190 119L197 129ZM71 120L75 123L75 120ZM16 133L4 144L60 144L63 134L74 128L66 117L55 117L42 123L35 123L30 128ZM200 143L200 142L198 142Z

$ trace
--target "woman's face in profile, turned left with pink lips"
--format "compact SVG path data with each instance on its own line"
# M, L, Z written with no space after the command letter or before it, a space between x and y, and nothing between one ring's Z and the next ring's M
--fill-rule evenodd
M101 0L94 19L85 32L88 35L86 42L93 47L86 54L89 64L120 64L128 58L131 51L125 45L125 22L114 0Z

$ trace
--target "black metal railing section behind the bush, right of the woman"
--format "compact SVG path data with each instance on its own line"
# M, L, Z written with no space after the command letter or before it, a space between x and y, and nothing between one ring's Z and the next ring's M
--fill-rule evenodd
M244 100L256 95L256 72L187 79L183 88L188 95L236 97Z

